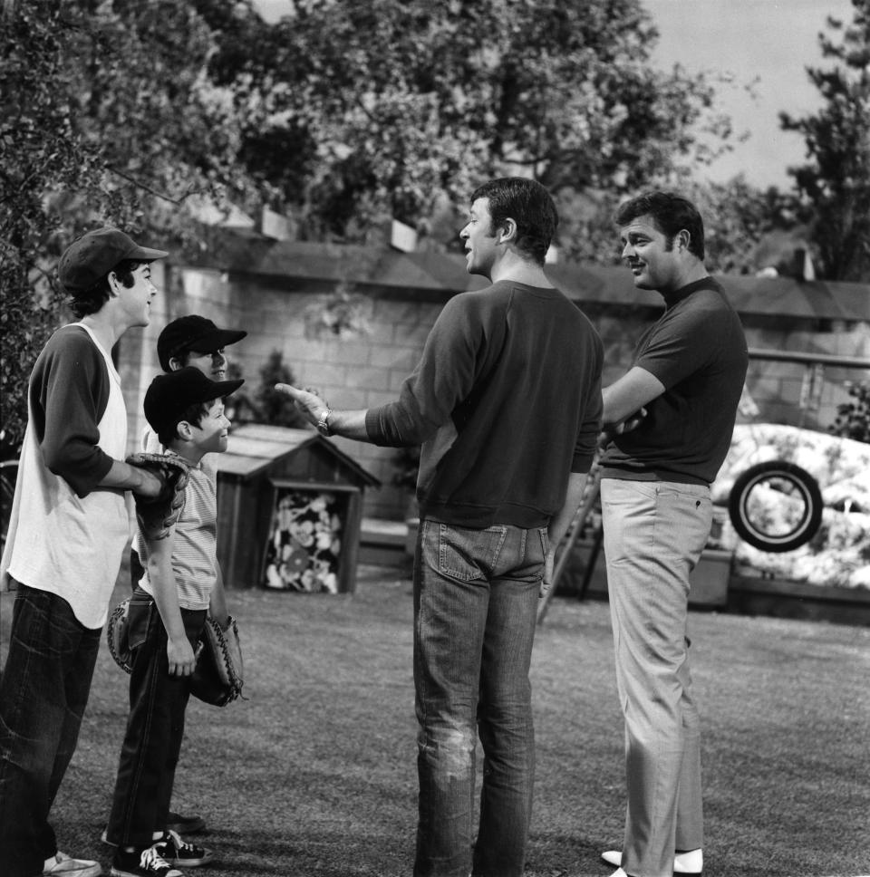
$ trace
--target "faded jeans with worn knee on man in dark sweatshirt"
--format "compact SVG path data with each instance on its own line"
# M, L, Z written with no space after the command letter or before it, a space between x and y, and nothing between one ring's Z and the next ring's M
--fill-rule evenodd
M420 522L416 877L523 872L535 775L528 670L545 554L545 529ZM475 725L484 766L472 864Z

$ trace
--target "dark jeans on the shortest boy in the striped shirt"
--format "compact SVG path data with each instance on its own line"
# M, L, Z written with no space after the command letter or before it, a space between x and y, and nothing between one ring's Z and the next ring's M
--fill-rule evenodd
M194 648L206 611L181 610L184 631ZM157 603L137 588L130 598L130 716L106 838L144 849L152 834L166 829L169 799L184 737L190 678L169 676L167 635Z

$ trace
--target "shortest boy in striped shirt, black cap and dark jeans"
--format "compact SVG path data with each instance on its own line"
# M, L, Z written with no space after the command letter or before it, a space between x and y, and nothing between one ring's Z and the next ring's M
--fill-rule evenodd
M145 394L145 417L166 452L129 462L156 471L164 489L136 507L145 573L128 613L130 718L105 835L117 846L113 877L179 877L177 866L211 858L166 824L199 637L209 611L222 630L233 624L218 566L217 494L200 463L227 449L223 400L243 382L210 381L190 367L159 375Z

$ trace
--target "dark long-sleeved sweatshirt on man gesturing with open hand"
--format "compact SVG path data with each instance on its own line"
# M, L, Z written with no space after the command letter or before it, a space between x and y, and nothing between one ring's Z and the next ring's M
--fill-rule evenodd
M484 529L546 526L601 426L603 347L564 294L511 281L450 299L369 438L421 444L420 516Z

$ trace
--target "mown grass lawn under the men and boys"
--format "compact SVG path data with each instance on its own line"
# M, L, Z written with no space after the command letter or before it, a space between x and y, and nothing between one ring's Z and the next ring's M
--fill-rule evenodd
M174 804L202 814L203 872L404 875L416 826L411 584L362 567L357 593L229 594L248 700L192 701ZM125 593L121 584L116 600ZM2 651L13 597L0 602ZM114 604L114 602L112 604ZM870 629L692 612L704 728L707 877L870 874ZM556 598L532 670L530 877L611 872L623 728L607 605ZM61 848L100 859L127 677L103 646L53 808ZM193 873L192 871L189 873Z

